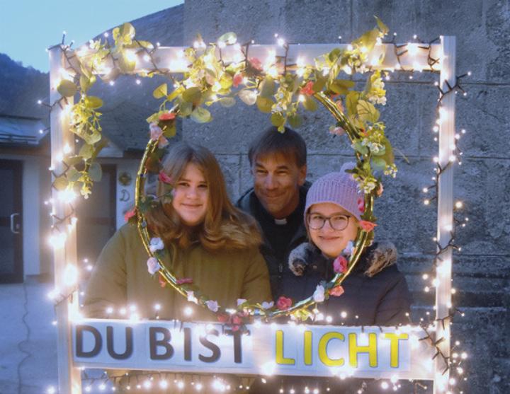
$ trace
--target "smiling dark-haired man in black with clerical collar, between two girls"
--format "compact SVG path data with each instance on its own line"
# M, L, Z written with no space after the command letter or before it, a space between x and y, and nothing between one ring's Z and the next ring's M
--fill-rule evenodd
M259 222L263 233L261 253L266 259L273 298L280 295L288 268L288 255L307 238L303 225L306 193L307 149L302 137L285 127L270 127L248 151L254 187L242 195L237 206Z

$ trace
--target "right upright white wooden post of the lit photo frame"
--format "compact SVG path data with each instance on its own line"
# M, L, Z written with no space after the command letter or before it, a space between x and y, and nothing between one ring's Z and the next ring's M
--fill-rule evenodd
M441 36L443 54L441 56L440 85L443 92L455 86L455 37ZM440 109L439 124L439 153L438 164L446 168L452 155L452 147L455 144L455 94L451 93L443 97ZM444 170L438 182L438 229L437 240L441 248L445 248L451 238L453 224L453 163ZM438 247L439 250L439 247ZM448 248L439 255L436 279L436 319L448 316L451 307L451 270L452 248ZM446 357L450 357L450 322L444 320L444 328L441 322L437 324L436 340L443 337L438 344L439 349ZM449 373L443 373L446 364L442 357L436 358L436 376L434 378L433 393L444 393L448 390Z

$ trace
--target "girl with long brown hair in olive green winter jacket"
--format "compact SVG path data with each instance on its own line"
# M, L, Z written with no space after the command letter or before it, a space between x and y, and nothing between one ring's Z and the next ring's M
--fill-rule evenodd
M179 142L162 166L157 194L163 196L170 184L171 198L160 199L146 219L151 236L161 238L168 251L163 264L225 308L235 308L237 299L271 301L259 230L251 216L230 202L215 156L203 146ZM89 280L86 315L117 317L125 308L141 318L215 320L210 311L190 309L193 304L183 296L160 286L157 274L147 272L147 257L136 226L120 228Z

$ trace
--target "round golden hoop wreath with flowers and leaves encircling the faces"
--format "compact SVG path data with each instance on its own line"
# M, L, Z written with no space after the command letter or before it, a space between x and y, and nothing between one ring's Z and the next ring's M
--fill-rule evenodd
M148 271L158 275L162 286L169 284L188 301L216 313L220 322L231 324L234 330L243 328L251 316L269 320L290 315L295 320L313 320L312 306L322 303L329 296L344 293L341 283L355 267L365 246L373 241L373 228L376 226L373 204L374 199L382 193L382 182L375 178L374 172L380 170L386 175L395 176L397 171L392 146L385 137L385 124L380 122L379 111L374 105L386 103L380 71L372 71L363 91L353 90L354 82L351 80L337 79L341 70L348 74L371 71L363 65L367 53L380 43L388 31L379 19L377 21L378 28L355 40L348 50L332 50L315 59L315 66L289 65L286 64L286 57L271 56L262 64L259 59L248 57L248 45L245 46L242 62L225 64L222 62L221 48L236 45L234 33L222 35L217 44L205 45L199 38L198 45L196 42L194 47L184 51L190 66L181 80L174 79L174 91L168 93L166 83L154 90L154 98L164 100L159 111L147 119L150 123L150 140L137 176L135 209L128 214L129 221L136 222L149 254ZM220 59L215 56L218 48ZM278 69L282 67L283 74L280 74ZM295 71L292 74L291 69ZM176 118L191 117L199 123L210 122L210 112L203 105L219 102L222 106L231 107L235 104L236 96L247 105L256 104L261 112L271 113L271 123L280 132L283 132L287 123L291 127L299 127L302 123L299 114L301 108L317 110L317 100L336 120L336 124L329 129L331 134L346 134L355 150L356 167L348 172L364 192L364 197L358 199L358 209L363 219L360 221L360 231L355 243L349 243L334 260L334 278L329 282L320 282L312 296L295 303L281 296L276 304L252 304L238 299L235 310L218 305L217 301L200 292L192 278L177 278L165 267L162 257L169 250L165 249L160 238L152 237L147 228L145 214L157 207L159 200L171 199L172 180L161 171L160 161L168 144L167 138L176 134ZM167 109L166 105L170 104L171 108ZM162 196L144 193L145 180L151 173L158 174L159 181L164 185Z

